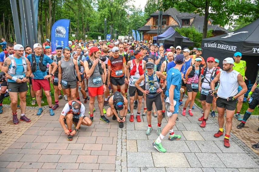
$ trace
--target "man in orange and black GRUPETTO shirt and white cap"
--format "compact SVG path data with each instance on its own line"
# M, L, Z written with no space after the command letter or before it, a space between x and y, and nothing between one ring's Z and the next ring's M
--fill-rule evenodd
M121 94L123 97L126 97L125 94L125 83L127 83L127 76L124 76L124 72L126 71L126 59L124 56L119 55L119 48L112 48L113 55L108 60L108 79L107 85L112 84L113 92L117 91L117 85L119 85ZM111 73L112 71L112 73Z

